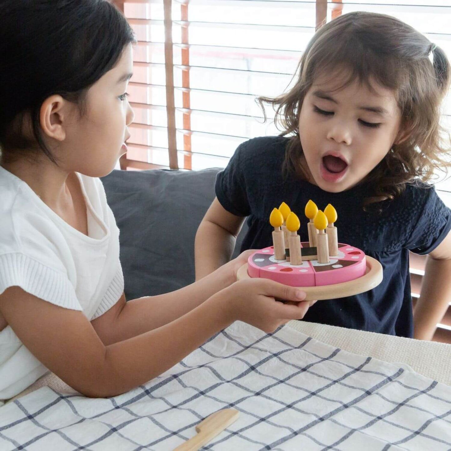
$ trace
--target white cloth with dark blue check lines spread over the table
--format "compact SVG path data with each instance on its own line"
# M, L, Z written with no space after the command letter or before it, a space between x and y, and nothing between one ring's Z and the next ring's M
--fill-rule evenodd
M451 387L290 327L236 322L124 395L45 387L6 404L0 450L172 450L228 407L239 419L202 449L451 449Z

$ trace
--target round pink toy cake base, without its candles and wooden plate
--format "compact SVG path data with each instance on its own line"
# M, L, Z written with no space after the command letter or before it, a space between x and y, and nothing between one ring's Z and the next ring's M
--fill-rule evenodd
M331 255L328 263L311 258L317 248L301 243L303 261L293 265L287 260L276 260L274 247L253 253L248 259L249 277L261 277L291 286L321 286L348 282L364 276L367 265L363 251L348 244L338 244L338 255Z

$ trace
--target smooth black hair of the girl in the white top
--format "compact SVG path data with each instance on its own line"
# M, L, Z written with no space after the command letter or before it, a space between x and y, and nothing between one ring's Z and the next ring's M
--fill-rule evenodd
M122 13L106 0L0 0L0 149L46 147L39 112L59 94L80 113L87 90L136 42ZM29 114L36 143L22 133Z

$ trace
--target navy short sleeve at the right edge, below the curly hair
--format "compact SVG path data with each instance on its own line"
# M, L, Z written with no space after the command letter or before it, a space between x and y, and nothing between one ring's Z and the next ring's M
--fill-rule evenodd
M420 214L413 224L406 248L417 254L428 254L451 230L451 210L438 197L435 188L421 191L423 208L419 209Z

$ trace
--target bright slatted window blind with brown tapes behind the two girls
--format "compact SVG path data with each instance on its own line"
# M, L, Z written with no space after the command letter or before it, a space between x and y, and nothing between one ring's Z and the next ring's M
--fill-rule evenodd
M351 11L390 14L423 32L451 60L450 0L125 0L116 4L136 32L135 111L122 169L199 170L225 167L243 141L279 131L258 96L291 83L315 29ZM443 105L451 129L451 96ZM451 180L437 183L451 207ZM412 294L418 297L425 257L411 255ZM436 340L451 343L451 308Z

